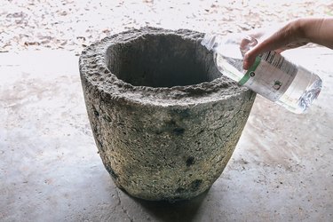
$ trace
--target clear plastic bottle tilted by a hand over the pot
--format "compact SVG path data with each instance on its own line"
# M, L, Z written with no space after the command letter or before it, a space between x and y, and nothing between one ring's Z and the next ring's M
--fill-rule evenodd
M244 70L243 56L256 44L255 38L243 35L221 38L206 34L202 39L202 45L215 52L215 64L223 75L293 113L303 113L318 97L321 78L276 52L259 55L252 67Z

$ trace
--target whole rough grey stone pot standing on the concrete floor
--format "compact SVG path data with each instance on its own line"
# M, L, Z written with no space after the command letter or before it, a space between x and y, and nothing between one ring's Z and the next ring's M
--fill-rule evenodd
M116 186L183 200L220 176L255 93L221 77L201 33L142 28L87 47L80 74L99 155Z

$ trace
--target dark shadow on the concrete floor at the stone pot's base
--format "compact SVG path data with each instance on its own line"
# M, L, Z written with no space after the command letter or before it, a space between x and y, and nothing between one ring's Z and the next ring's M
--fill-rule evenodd
M131 197L131 199L140 204L152 218L155 218L158 221L192 221L197 215L208 192L209 190L192 200L180 202L152 202L134 197Z

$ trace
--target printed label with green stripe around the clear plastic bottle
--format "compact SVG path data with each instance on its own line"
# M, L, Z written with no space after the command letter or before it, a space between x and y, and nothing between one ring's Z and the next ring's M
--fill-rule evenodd
M242 85L276 101L287 91L297 75L298 68L276 52L265 52L242 77Z

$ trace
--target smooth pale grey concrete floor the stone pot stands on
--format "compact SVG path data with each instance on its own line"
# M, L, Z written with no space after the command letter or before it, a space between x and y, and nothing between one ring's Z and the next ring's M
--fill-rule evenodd
M333 52L289 57L321 75L294 115L258 96L226 170L190 202L146 202L117 189L86 115L78 57L0 53L0 221L332 221Z

